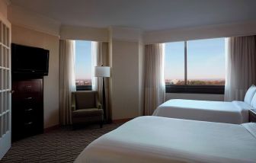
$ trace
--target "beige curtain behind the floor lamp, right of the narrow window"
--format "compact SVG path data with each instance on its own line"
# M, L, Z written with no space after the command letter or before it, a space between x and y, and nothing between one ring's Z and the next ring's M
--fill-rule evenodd
M104 42L94 42L92 50L95 54L95 66L109 66L109 56L108 56L108 43ZM101 101L101 104L103 104L103 82L102 78L94 78L94 90L98 91L99 99ZM109 78L104 78L104 88L105 88L105 103L106 108L104 109L106 113L106 120L107 122L110 122L111 117L111 111L110 111L110 100L109 100Z

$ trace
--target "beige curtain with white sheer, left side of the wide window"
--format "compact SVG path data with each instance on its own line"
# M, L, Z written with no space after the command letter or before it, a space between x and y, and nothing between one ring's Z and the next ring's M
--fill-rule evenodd
M144 115L152 115L165 101L164 44L146 45L144 79Z

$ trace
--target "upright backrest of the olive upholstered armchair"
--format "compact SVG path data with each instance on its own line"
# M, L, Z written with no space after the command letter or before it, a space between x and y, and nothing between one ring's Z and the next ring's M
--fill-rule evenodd
M76 91L75 110L96 107L96 95L97 91Z

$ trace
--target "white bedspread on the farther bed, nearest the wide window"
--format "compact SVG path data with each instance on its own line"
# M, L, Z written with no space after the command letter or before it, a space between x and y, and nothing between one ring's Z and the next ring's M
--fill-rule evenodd
M247 123L251 106L242 101L169 100L161 104L153 116L220 123Z

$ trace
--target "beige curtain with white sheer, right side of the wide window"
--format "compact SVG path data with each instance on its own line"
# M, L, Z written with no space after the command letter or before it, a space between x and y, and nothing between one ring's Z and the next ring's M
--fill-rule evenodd
M256 84L256 37L226 40L225 101L244 101L247 89Z

